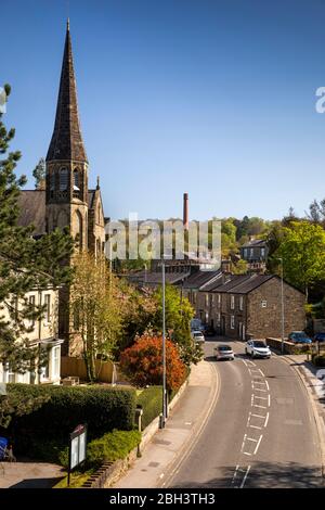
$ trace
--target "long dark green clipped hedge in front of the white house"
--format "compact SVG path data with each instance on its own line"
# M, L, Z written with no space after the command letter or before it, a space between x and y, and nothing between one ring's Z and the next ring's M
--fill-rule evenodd
M135 392L105 386L32 386L8 384L8 393L22 401L49 395L38 410L14 417L10 433L14 439L22 435L39 435L49 439L67 439L79 423L88 424L89 438L100 437L114 429L134 426Z

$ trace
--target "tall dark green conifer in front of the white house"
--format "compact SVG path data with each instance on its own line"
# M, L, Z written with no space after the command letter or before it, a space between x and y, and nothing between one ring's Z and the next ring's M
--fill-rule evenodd
M9 86L5 91L9 95ZM24 373L38 355L28 344L26 319L41 318L44 313L43 306L31 308L25 295L36 288L55 288L70 280L72 270L64 262L74 244L67 232L54 231L35 240L32 225L18 226L18 196L26 178L17 178L14 171L21 153L9 152L14 135L14 129L6 130L0 114L0 362Z

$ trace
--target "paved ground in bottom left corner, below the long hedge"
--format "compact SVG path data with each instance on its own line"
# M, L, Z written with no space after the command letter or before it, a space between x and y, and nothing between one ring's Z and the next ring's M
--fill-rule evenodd
M46 462L0 462L0 488L51 488L65 474Z

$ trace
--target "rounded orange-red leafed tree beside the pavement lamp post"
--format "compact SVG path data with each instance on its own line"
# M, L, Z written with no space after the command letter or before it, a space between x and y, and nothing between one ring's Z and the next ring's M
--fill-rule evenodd
M144 334L121 353L120 367L139 387L162 383L162 337ZM178 390L185 380L185 365L178 346L166 339L166 386Z

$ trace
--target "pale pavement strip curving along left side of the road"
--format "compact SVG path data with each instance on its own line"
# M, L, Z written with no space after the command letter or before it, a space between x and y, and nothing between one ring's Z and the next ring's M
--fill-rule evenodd
M164 485L170 470L193 448L218 400L218 377L211 364L194 366L187 387L127 474L114 488L153 488Z

